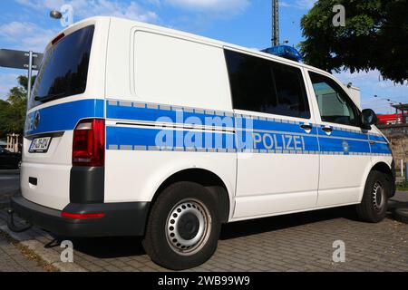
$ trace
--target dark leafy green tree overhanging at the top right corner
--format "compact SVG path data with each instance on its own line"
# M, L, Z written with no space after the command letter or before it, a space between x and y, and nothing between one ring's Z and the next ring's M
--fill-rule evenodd
M334 5L345 6L345 27L333 24ZM301 20L305 62L325 71L378 70L384 79L408 80L408 0L319 0Z

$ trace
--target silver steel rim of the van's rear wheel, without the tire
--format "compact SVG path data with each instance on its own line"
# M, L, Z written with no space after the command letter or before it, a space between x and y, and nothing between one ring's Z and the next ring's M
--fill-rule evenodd
M199 200L185 199L171 209L166 237L173 251L193 255L206 244L211 231L209 209Z

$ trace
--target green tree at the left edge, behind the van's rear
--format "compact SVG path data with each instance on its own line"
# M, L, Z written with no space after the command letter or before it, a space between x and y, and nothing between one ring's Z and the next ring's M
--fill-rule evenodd
M32 83L34 80L35 77ZM0 138L8 133L22 134L24 131L28 78L20 75L17 82L18 86L8 93L7 101L0 100Z

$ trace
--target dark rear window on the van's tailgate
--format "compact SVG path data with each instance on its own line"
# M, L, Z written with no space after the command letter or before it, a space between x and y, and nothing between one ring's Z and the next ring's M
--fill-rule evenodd
M55 43L44 55L28 109L85 92L94 25Z

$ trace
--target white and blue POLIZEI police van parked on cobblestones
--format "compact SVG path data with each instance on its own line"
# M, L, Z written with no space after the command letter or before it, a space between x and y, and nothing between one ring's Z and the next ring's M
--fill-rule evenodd
M141 236L185 269L228 222L346 205L381 221L394 165L375 121L314 67L90 18L46 47L11 205L61 237Z

